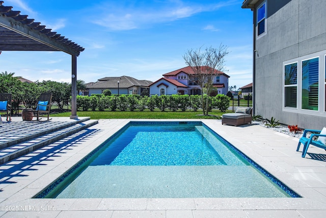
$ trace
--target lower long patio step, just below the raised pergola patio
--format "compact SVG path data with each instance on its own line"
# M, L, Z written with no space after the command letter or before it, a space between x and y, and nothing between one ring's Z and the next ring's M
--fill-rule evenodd
M88 119L84 122L74 123L74 125L64 125L59 129L55 128L55 131L50 131L47 134L35 135L34 138L29 137L29 140L1 149L0 164L6 163L17 157L33 152L39 148L47 146L48 144L51 144L53 142L59 141L63 138L66 138L74 133L82 131L96 124L98 124L98 120Z

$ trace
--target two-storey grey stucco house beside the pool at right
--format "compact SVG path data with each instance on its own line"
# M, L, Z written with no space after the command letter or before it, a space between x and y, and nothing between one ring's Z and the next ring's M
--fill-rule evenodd
M254 114L280 123L326 125L324 0L246 0L253 11Z

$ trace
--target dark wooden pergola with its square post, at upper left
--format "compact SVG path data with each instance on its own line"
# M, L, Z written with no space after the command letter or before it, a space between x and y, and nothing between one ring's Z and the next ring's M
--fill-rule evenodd
M77 116L76 74L77 57L84 51L82 46L51 32L40 22L34 22L28 15L3 6L0 1L0 53L2 51L60 51L71 55L71 119Z

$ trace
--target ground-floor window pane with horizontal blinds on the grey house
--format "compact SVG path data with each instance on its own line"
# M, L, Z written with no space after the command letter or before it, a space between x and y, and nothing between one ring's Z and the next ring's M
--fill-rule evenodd
M318 110L319 58L302 61L302 109Z

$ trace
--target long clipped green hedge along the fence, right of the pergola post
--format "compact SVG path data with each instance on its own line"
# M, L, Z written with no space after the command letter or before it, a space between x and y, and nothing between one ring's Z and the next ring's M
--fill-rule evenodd
M208 98L209 111L225 112L229 107L230 98L224 94ZM201 95L77 95L79 111L197 111L201 107Z

